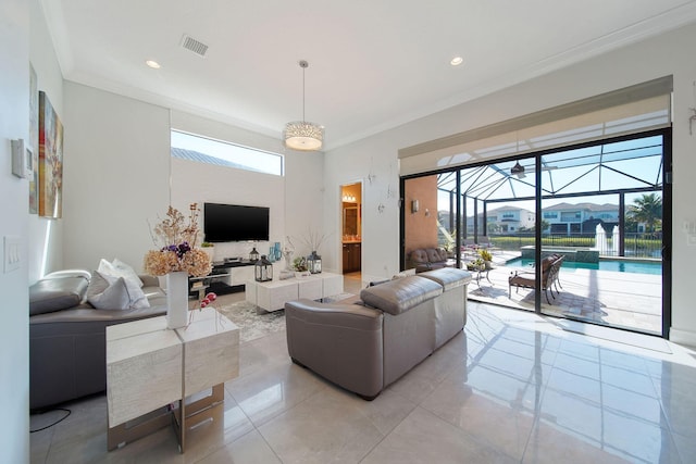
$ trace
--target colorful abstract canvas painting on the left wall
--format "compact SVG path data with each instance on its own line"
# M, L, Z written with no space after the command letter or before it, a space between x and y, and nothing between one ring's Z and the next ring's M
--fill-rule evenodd
M63 209L63 124L39 92L39 215L60 218Z

